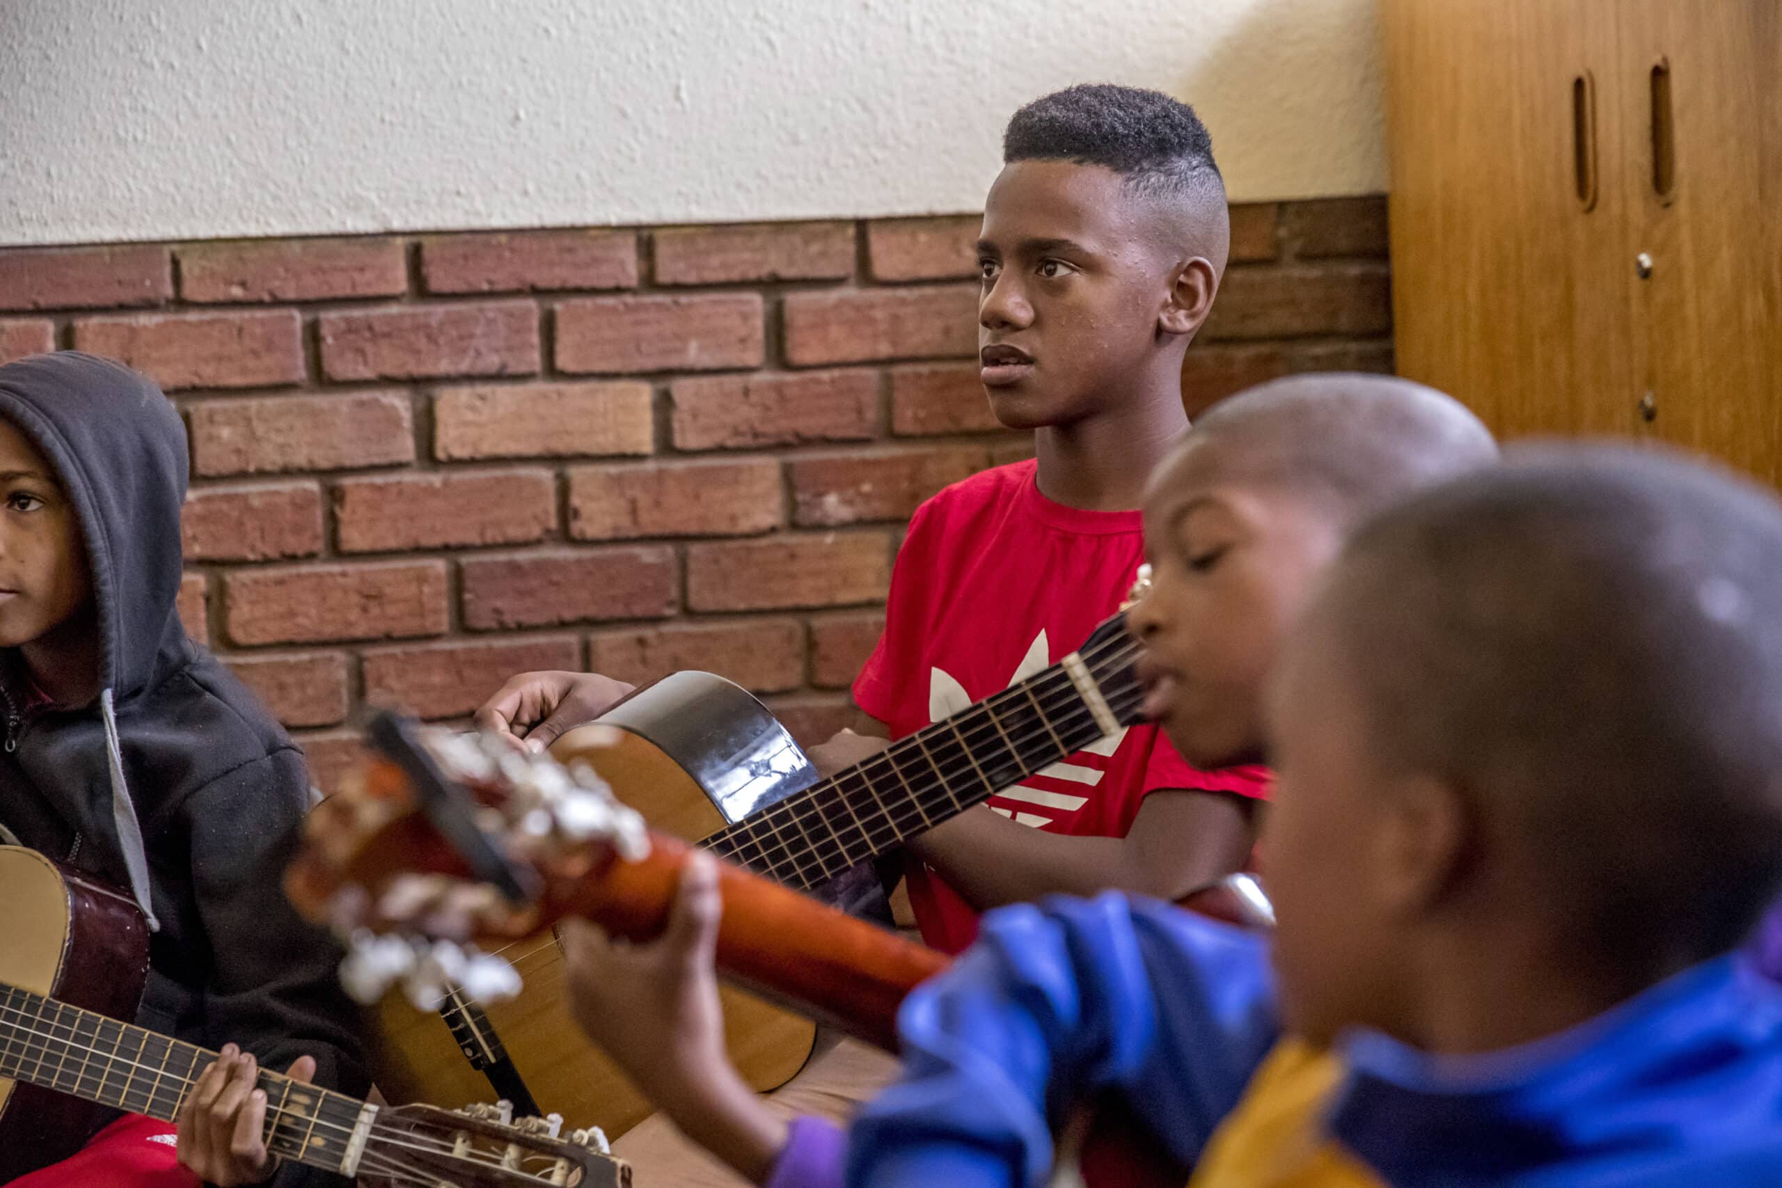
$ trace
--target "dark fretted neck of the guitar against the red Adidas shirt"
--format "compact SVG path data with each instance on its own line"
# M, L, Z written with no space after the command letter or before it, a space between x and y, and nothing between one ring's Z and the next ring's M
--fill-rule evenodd
M1116 616L1051 668L716 834L702 846L813 889L1139 720L1137 647Z

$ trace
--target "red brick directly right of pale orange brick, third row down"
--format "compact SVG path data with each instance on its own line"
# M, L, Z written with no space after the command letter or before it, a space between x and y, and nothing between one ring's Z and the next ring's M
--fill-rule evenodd
M870 370L677 379L670 399L675 449L861 442L879 431Z

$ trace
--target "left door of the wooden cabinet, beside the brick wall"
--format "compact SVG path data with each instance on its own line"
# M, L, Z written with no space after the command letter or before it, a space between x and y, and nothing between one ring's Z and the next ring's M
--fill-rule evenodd
M1500 436L1636 426L1623 103L1595 0L1385 0L1399 372Z

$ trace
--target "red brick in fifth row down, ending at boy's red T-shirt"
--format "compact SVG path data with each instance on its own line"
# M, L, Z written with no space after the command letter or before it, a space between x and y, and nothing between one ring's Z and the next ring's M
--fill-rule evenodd
M688 545L690 611L775 611L880 602L889 533L825 533Z

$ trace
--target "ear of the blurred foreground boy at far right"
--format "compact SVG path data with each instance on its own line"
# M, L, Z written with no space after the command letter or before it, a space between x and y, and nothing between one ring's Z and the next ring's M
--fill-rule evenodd
M1417 915L1454 887L1477 844L1477 814L1442 780L1404 777L1383 787L1374 883L1399 917Z

